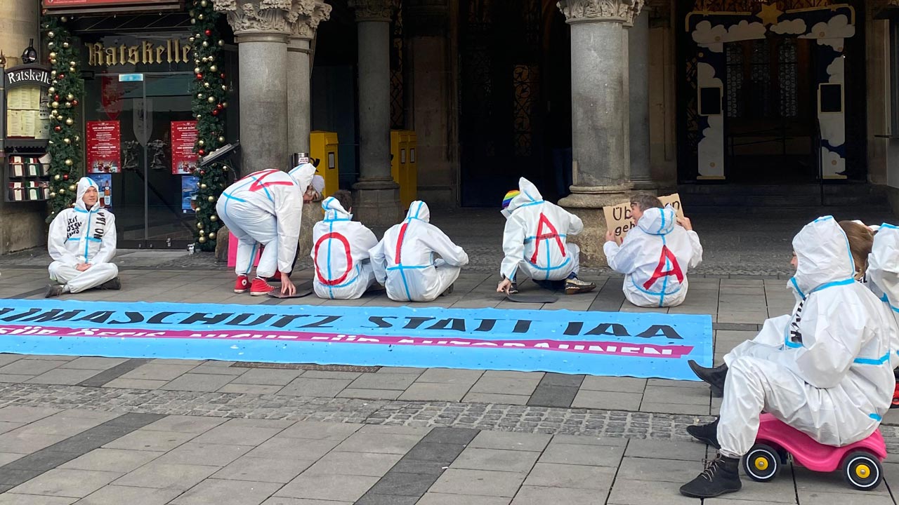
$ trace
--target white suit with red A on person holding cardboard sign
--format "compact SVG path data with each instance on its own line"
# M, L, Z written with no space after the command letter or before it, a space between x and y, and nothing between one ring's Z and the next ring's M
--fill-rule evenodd
M672 208L648 208L621 245L602 246L609 267L624 274L624 296L635 306L679 306L687 272L702 262L699 235L678 226Z

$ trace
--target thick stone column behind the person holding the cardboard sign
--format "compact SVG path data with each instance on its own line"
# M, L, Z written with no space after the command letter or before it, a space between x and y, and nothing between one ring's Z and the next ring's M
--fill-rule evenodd
M572 194L559 200L583 219L574 242L583 266L604 266L606 232L602 207L628 199L630 116L628 39L643 0L560 0L571 25Z

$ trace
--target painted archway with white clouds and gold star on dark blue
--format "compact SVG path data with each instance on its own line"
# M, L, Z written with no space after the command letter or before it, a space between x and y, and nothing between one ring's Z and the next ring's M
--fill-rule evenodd
M812 76L817 129L818 171L823 179L845 179L846 109L844 77L845 40L855 35L856 16L849 4L824 1L783 1L761 4L755 0L705 1L685 19L685 29L696 49L695 137L699 180L725 179L725 97L728 92L725 44L761 40L770 36L814 40L817 68ZM728 12L716 11L728 8ZM794 7L794 8L788 8ZM745 8L745 11L737 9Z

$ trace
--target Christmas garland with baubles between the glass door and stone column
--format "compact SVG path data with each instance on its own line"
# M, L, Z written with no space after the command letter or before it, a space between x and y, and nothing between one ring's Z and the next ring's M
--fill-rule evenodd
M191 47L196 76L191 84L193 93L193 116L197 119L197 144L193 150L198 155L208 155L225 144L225 108L227 107L227 84L225 73L220 68L221 47L225 41L219 39L219 13L212 8L212 0L192 0ZM222 226L216 215L216 202L225 189L226 167L211 164L198 167L194 172L200 178L197 191L197 228L194 231L197 248L200 251L214 251L216 234Z

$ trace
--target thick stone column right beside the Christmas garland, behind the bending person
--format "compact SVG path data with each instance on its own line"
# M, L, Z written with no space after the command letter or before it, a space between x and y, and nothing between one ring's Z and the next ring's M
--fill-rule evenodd
M214 0L237 39L241 171L288 165L287 40L290 0Z

